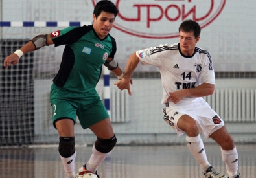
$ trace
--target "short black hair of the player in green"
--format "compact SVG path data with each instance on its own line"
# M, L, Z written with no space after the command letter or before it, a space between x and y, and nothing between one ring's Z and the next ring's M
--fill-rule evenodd
M104 12L108 12L108 13L113 13L115 14L115 17L117 17L117 14L119 12L119 10L117 9L117 7L115 6L114 3L112 3L109 0L102 0L99 1L96 5L95 8L93 10L93 14L95 14L95 17L97 18L100 13L104 11Z

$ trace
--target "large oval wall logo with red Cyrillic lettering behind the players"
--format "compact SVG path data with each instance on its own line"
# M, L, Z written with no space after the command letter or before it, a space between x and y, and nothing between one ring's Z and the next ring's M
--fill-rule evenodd
M99 1L92 0L93 6ZM119 10L114 28L136 37L166 39L179 36L177 27L185 19L197 21L201 28L207 27L220 16L227 0L111 1Z

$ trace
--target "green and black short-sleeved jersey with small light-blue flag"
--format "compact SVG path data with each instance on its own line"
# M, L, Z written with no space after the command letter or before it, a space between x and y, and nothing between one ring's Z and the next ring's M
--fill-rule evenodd
M93 26L67 27L49 34L55 47L65 45L62 62L53 83L76 93L95 90L107 58L117 50L115 39L108 34L100 39Z

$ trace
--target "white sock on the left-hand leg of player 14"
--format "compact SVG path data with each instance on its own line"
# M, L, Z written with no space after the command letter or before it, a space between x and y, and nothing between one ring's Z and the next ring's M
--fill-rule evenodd
M192 155L194 155L194 158L199 163L203 172L206 173L206 170L207 168L209 168L210 164L207 160L204 143L200 135L196 137L187 136L186 140L187 140L187 147L191 151Z

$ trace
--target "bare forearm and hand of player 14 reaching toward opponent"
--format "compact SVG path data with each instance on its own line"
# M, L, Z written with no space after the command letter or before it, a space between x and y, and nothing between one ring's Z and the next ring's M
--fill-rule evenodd
M139 64L139 57L134 52L134 54L130 56L126 64L124 78L122 78L122 80L115 82L115 85L117 85L119 89L121 90L127 89L129 95L132 95L130 91L130 83L132 84L132 73L134 72L138 64Z

